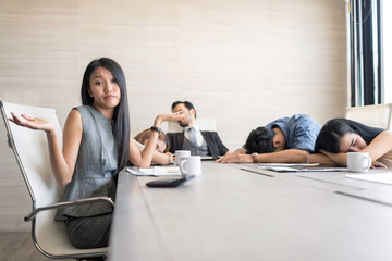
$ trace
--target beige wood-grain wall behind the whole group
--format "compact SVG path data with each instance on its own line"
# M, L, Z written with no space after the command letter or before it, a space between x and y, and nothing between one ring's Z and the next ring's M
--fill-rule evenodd
M133 134L191 100L234 150L277 117L346 107L344 0L1 0L0 36L0 99L56 108L61 125L99 57L125 72ZM0 231L26 231L2 123L0 165Z

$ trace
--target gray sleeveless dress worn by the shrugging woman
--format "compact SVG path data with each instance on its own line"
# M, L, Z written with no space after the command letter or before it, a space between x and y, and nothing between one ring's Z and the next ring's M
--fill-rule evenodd
M98 196L111 197L114 200L117 185L114 172L118 167L118 150L112 133L112 122L94 107L83 105L74 109L78 110L82 115L83 135L75 171L72 181L64 188L61 201ZM82 222L86 217L85 220L96 222L97 216L109 215L105 219L105 222L109 222L109 224L96 225L110 227L112 211L112 207L106 202L83 204L58 210L56 220L66 221L66 223L69 221L77 221L78 224L68 228L78 229L83 226L83 229L81 233L77 231L69 232L70 239L74 245L79 245L76 247L89 248L95 247L94 245L97 244L93 243L93 246L89 246L83 245L83 243L75 243L75 240L78 240L77 237L81 235L95 239L98 237L97 232L99 234L99 229L90 224L79 223L79 221ZM86 231L88 226L91 226L90 235Z

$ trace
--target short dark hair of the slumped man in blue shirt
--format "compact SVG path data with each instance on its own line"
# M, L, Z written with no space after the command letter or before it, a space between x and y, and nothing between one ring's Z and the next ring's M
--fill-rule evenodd
M274 136L275 133L270 127L258 127L253 129L246 138L246 153L269 153L275 151L277 148L273 147Z

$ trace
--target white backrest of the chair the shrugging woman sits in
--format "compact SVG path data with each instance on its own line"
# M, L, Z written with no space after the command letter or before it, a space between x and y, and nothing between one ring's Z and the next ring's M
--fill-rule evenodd
M1 102L1 111L9 135L9 145L15 153L17 164L32 196L33 208L59 202L62 187L56 182L50 167L47 135L45 132L21 127L7 120L11 117L11 112L17 115L27 114L45 117L57 127L61 142L61 129L54 109Z

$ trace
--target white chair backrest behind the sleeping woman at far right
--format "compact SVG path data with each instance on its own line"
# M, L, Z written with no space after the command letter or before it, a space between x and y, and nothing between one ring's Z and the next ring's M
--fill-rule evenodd
M391 129L391 105L377 104L347 108L345 117L372 127Z

